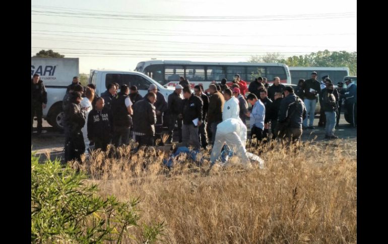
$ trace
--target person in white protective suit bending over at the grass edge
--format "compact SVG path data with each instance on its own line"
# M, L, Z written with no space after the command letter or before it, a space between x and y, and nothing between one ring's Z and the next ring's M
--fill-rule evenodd
M245 149L246 126L240 118L227 119L217 125L216 139L210 155L212 165L219 158L224 143L231 147L234 153L241 155L241 164L244 167L252 167Z

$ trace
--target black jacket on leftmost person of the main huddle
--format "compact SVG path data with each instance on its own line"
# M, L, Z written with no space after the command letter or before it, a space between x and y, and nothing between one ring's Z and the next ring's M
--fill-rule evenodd
M71 103L67 107L66 125L69 126L71 135L80 132L85 125L85 112L81 109L80 104Z

